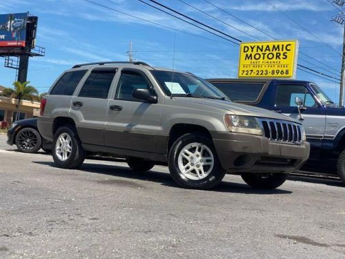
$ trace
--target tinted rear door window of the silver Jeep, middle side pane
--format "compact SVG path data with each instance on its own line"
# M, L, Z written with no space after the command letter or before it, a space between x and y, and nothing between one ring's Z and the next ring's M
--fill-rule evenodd
M79 97L106 99L116 70L94 69L79 92Z

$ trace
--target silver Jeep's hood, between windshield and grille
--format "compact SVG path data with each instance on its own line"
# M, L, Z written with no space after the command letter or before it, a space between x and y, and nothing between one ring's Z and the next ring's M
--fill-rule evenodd
M179 102L188 102L200 105L211 106L219 108L225 111L230 111L235 113L235 115L246 115L253 117L264 117L270 119L283 119L289 122L297 122L288 116L282 115L280 113L275 113L273 111L268 111L263 108L258 108L255 106L250 106L246 104L239 104L230 101L218 100L218 99L207 99L207 98L193 98L193 97L175 97ZM300 124L300 123L299 123Z

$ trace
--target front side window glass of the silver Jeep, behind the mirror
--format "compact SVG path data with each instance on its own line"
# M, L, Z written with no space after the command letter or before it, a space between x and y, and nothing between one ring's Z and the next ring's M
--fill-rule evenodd
M146 78L133 71L122 71L115 93L115 99L143 102L133 97L133 91L136 89L150 89Z

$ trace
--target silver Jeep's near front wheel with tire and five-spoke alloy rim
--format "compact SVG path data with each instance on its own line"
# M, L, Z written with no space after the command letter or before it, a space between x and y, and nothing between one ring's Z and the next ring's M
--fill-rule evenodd
M190 189L212 189L225 175L213 142L200 133L185 134L172 144L168 166L172 179Z

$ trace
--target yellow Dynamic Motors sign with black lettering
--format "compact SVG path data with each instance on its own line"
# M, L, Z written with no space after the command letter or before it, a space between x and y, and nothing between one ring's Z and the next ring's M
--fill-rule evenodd
M242 43L238 77L295 78L298 41Z

